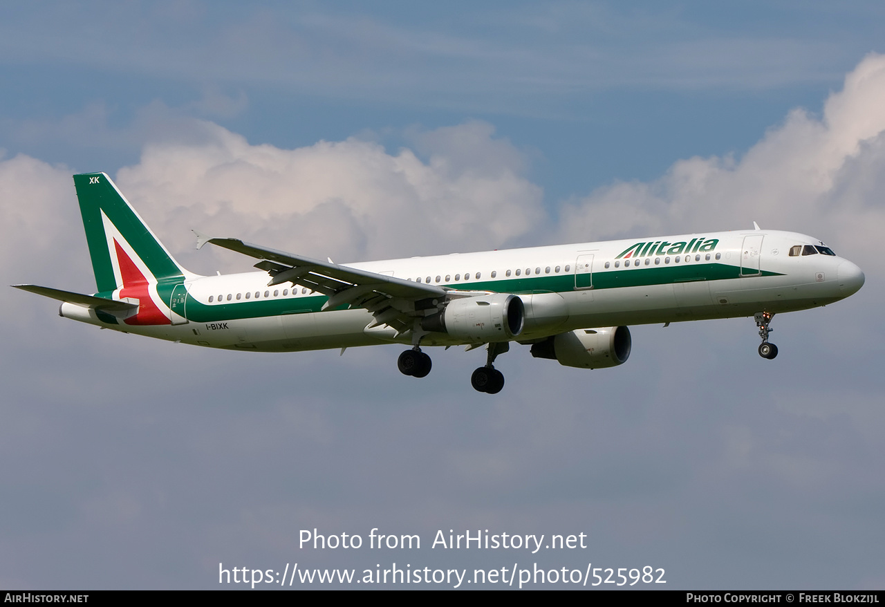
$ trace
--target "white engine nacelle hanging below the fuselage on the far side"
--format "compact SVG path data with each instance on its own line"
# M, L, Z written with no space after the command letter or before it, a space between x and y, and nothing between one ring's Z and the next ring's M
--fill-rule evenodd
M535 343L532 356L551 358L558 360L560 365L581 369L604 369L626 363L631 345L627 327L578 329Z

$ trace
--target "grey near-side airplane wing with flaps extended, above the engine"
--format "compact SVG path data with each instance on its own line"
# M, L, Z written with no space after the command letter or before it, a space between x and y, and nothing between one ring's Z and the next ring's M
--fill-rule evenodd
M266 249L236 238L208 238L197 233L197 249L206 242L261 259L255 267L271 275L268 286L291 282L322 293L329 298L323 310L342 305L366 308L375 318L372 327L389 325L399 333L411 329L412 320L422 315L420 311L435 308L433 300L444 300L449 290Z

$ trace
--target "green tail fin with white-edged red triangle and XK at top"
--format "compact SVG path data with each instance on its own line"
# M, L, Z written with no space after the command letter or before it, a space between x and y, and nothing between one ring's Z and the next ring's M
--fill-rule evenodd
M73 176L99 293L189 274L105 173Z

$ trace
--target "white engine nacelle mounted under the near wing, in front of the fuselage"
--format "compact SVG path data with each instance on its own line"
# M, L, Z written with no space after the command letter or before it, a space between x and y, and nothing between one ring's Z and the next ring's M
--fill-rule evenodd
M506 342L522 333L526 313L515 295L452 299L443 311L421 321L421 328L473 342Z

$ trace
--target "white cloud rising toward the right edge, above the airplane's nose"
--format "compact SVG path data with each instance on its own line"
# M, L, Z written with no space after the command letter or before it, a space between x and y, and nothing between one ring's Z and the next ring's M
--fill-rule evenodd
M563 208L566 240L762 227L817 235L846 257L885 228L885 56L869 55L822 116L797 109L743 156L680 160L656 181L615 183ZM881 269L881 262L873 260ZM866 267L865 267L866 269Z

